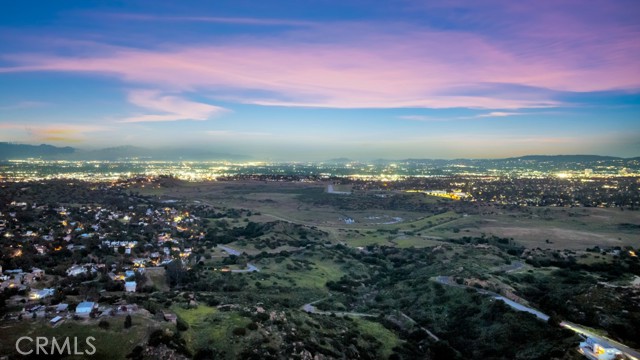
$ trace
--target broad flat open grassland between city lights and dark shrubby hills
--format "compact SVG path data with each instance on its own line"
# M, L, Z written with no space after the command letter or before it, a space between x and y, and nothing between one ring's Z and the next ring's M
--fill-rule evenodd
M453 201L420 193L372 192L328 194L327 183L207 182L179 183L162 189L140 189L164 198L198 201L220 208L244 208L253 222L287 221L316 226L331 242L352 246L430 246L434 241L463 236L513 238L528 248L584 249L593 246L638 246L640 212L606 208L488 206L451 207ZM403 209L393 197L403 196ZM380 198L385 197L385 198ZM348 199L348 201L347 201ZM390 200L391 199L391 200ZM430 204L449 211L411 211ZM345 209L340 204L348 203ZM361 203L361 204L360 204ZM372 205L373 204L373 205ZM376 205L377 204L377 205ZM394 208L385 208L396 204ZM380 205L380 206L378 206ZM369 206L369 207L368 207ZM373 206L373 207L372 207ZM377 206L377 207L376 207ZM475 211L474 211L475 210ZM346 219L353 219L348 223ZM242 226L236 221L231 226ZM630 226L629 226L630 225ZM244 248L248 253L251 247Z

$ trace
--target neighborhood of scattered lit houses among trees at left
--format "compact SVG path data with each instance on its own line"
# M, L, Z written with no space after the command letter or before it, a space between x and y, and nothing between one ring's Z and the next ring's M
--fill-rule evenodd
M138 311L135 298L125 295L157 285L145 270L162 270L164 281L162 266L186 264L192 249L185 242L202 239L204 232L199 217L174 207L13 201L0 204L0 237L0 293L2 305L12 310L5 320L47 319L57 326ZM105 294L116 300L102 303ZM175 322L175 315L164 315Z

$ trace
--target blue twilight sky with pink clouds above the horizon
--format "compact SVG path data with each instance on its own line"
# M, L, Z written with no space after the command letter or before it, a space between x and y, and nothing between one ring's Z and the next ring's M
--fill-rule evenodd
M640 2L12 1L0 141L640 156Z

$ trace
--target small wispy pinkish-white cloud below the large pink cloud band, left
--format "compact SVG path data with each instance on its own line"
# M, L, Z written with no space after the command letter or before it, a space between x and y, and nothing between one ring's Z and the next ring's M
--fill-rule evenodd
M184 99L179 96L163 95L155 90L134 90L129 93L129 102L154 112L120 120L124 123L165 122L182 120L207 120L228 110L214 105Z

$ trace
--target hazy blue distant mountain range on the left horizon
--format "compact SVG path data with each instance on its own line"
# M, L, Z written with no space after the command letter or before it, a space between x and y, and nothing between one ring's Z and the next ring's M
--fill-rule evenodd
M217 153L202 149L172 148L146 149L136 146L118 146L100 150L80 150L52 145L24 145L0 142L0 160L39 158L45 160L249 160L246 155Z

